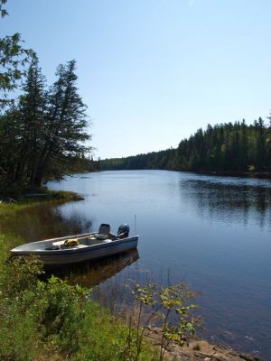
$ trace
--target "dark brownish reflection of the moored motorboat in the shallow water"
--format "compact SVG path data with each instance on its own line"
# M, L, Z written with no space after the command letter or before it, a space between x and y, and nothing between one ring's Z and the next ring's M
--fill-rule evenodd
M79 284L82 287L93 288L116 276L117 273L138 259L138 251L135 248L129 252L111 255L97 261L70 264L56 269L53 273L70 284Z

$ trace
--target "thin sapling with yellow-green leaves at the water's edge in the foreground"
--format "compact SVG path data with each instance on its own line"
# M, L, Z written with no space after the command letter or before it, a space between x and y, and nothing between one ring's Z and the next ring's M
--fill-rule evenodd
M163 361L165 348L171 341L180 346L189 342L196 327L200 324L200 318L192 315L192 311L198 308L191 303L191 300L198 294L197 292L193 292L180 282L165 288L157 287L155 284L147 284L145 287L136 284L132 293L139 303L138 315L135 320L136 360L139 359L141 353L145 329L151 325L154 319L156 323L157 319L160 319L162 330L160 361ZM142 314L145 307L151 308L152 311L149 311L148 316L143 320ZM141 326L142 322L143 327Z

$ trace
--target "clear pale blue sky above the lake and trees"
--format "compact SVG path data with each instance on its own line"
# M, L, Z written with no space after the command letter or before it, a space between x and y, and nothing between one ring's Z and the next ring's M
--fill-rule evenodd
M271 110L270 0L8 0L48 85L77 60L94 157L177 147L208 124ZM267 120L266 120L267 122Z

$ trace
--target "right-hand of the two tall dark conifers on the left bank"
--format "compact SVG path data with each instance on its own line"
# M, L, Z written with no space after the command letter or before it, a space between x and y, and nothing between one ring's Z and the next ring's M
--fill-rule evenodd
M42 180L51 176L61 178L70 157L89 150L83 145L91 137L85 132L88 117L76 88L75 69L75 60L60 65L56 72L58 79L49 89L42 149L32 177L33 185L40 186Z

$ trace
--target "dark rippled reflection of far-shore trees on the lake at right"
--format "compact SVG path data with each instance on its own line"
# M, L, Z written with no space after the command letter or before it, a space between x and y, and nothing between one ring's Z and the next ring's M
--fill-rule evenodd
M248 224L249 218L259 227L271 227L271 188L242 182L180 180L181 196L195 205L201 218L220 219L227 223Z

